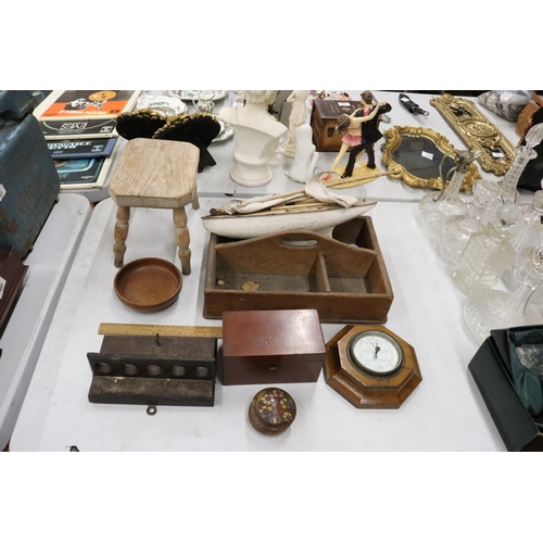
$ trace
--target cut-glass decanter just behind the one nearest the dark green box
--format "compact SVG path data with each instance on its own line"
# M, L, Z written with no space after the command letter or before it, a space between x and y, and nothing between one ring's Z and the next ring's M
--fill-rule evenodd
M491 289L515 260L512 237L520 211L515 204L504 205L494 223L475 233L453 270L453 279L465 293Z

